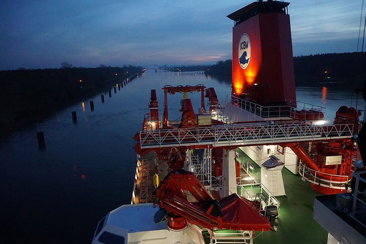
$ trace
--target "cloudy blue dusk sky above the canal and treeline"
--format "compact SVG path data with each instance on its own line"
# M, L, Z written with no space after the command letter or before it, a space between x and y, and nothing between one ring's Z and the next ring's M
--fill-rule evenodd
M252 1L2 0L0 69L231 59L233 22L226 15ZM355 52L361 6L362 0L291 1L293 55Z

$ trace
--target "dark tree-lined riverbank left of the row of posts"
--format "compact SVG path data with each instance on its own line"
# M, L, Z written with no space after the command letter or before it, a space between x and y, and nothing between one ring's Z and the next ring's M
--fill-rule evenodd
M144 71L140 66L0 71L0 138Z

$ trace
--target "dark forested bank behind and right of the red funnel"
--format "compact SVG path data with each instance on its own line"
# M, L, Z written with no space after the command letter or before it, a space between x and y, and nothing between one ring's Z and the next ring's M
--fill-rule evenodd
M366 79L366 53L317 54L293 57L296 86L333 86L362 89ZM200 68L200 69L199 69ZM172 67L174 71L200 71L231 76L231 60L214 65Z

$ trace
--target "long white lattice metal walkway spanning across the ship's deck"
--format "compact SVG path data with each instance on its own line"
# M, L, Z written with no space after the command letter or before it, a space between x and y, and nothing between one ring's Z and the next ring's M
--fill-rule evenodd
M255 122L181 129L144 130L141 148L191 145L240 146L284 142L344 139L353 136L353 124L309 125L308 122Z

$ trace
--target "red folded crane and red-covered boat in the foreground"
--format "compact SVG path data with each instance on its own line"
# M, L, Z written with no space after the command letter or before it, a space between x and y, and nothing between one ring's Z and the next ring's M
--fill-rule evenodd
M184 170L171 171L153 195L167 211L168 227L175 231L184 229L187 221L210 230L268 231L272 228L254 202L237 194L215 200L193 173Z

